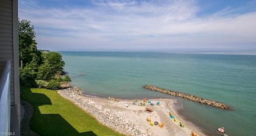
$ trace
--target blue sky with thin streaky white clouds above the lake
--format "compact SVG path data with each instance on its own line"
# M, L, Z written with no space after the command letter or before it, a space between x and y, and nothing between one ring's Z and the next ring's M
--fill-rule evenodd
M256 50L256 1L19 0L38 49Z

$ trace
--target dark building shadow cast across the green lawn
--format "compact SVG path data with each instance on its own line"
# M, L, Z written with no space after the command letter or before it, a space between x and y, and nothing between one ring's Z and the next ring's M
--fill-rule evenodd
M32 127L40 135L90 135L96 136L94 132L79 133L60 114L41 114L39 106L52 105L51 99L44 94L33 93L29 88L22 88L21 98L32 103L34 106L34 117Z

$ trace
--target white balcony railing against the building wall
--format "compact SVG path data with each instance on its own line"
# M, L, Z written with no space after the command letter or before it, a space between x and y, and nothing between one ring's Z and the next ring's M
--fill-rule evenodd
M10 132L10 61L6 61L0 77L0 134Z

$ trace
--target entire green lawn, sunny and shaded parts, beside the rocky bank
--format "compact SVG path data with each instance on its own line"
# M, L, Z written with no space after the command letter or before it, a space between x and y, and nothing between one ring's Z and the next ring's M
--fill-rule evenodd
M21 87L21 98L34 105L32 129L40 135L121 135L99 124L56 91Z

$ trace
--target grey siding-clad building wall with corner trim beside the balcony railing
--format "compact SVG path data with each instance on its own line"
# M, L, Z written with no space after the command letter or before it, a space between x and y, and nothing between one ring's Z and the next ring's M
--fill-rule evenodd
M18 52L18 0L0 0L0 73L4 61L11 62L11 106L20 120L20 72ZM1 74L0 74L1 75Z

